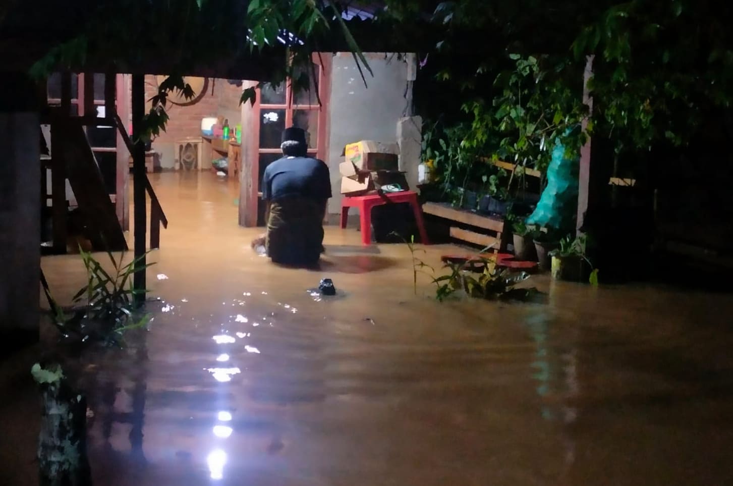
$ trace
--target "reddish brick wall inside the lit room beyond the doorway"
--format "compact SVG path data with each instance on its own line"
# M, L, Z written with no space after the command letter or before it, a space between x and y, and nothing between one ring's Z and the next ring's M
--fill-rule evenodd
M241 112L239 98L242 87L229 84L225 79L209 79L205 86L206 93L196 103L189 106L169 104L167 108L169 121L166 131L153 141L153 150L161 154L161 167L172 169L175 162L176 141L189 137L201 136L201 119L205 117L225 117L229 125L240 123ZM145 99L158 93L158 82L155 76L145 76ZM150 109L150 105L147 106Z

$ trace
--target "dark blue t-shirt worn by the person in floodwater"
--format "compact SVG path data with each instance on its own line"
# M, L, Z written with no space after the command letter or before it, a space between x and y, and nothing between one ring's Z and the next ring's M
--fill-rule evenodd
M328 166L315 158L284 157L270 163L262 176L262 199L301 196L323 201L331 197Z

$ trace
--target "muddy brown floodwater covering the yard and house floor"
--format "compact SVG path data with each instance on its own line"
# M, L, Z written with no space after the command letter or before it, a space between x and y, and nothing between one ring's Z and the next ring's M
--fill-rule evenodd
M320 270L281 268L234 185L152 182L150 331L85 358L96 485L733 484L729 295L534 276L545 303L438 303L405 245L328 227ZM84 280L43 269L62 301ZM324 277L336 298L306 292ZM35 484L26 381L0 380L2 485Z

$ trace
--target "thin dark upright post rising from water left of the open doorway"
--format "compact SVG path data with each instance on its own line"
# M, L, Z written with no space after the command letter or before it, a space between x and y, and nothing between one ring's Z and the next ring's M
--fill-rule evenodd
M141 258L139 265L145 265L145 186L147 176L145 175L145 145L141 139L142 119L145 114L145 76L133 74L132 76L132 112L133 112L133 216L135 218L135 258ZM145 289L145 270L138 270L133 276L133 287L136 290ZM145 294L135 295L138 304L145 301Z

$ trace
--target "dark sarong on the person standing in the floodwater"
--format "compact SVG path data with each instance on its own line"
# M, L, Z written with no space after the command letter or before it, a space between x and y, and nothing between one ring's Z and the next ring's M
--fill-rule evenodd
M268 257L285 265L314 265L323 248L323 207L292 196L270 203Z

